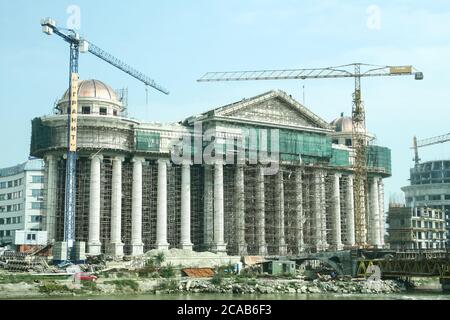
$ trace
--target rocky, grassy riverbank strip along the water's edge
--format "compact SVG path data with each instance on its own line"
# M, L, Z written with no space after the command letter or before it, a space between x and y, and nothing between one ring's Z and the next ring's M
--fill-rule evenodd
M12 279L12 283L0 284L0 299L133 296L165 294L391 294L405 291L396 281L379 280L329 280L307 281L303 279L217 278L211 279L146 279L105 278L96 282L73 283L71 279Z

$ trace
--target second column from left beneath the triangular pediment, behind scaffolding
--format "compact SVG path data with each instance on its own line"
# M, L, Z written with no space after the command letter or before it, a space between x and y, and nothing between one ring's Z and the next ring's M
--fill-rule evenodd
M245 196L244 196L244 166L236 165L234 176L236 191L235 191L235 224L237 235L237 253L240 256L247 255L247 243L245 242Z

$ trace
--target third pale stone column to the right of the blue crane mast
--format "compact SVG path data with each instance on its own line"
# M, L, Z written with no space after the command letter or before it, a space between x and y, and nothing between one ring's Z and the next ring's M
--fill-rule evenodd
M133 185L131 190L131 254L144 253L142 242L142 163L144 158L133 158Z

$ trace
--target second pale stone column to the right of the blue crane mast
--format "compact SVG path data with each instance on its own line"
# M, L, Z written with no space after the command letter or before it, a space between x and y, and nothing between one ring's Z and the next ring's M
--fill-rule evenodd
M115 257L123 256L122 243L122 162L123 157L112 160L111 181L111 243L109 254Z

